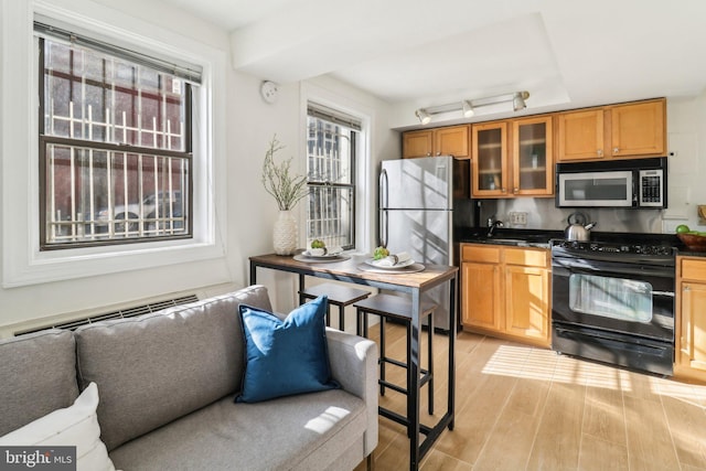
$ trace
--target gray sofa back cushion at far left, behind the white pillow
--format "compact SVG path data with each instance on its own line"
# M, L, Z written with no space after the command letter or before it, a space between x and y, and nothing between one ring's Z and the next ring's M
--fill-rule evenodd
M78 397L76 344L69 331L46 330L0 341L0 436Z

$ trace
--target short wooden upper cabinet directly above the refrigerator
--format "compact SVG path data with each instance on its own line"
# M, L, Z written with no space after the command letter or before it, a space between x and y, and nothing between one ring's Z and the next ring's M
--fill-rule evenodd
M402 137L403 159L430 156L453 156L468 159L469 125L404 132Z

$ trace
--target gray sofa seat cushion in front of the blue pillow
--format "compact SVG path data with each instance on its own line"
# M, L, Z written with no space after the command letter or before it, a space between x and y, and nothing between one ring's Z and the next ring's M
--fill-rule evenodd
M257 404L224 398L110 452L118 469L312 470L339 465L357 443L363 457L365 404L343 389Z

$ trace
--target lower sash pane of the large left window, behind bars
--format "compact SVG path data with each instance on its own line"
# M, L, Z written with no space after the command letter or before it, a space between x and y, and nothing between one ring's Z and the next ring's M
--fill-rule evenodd
M188 233L185 159L47 144L45 161L47 244Z

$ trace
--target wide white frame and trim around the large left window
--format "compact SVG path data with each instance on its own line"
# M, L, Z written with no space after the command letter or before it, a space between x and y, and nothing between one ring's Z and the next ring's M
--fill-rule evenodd
M71 8L44 0L0 1L4 9L0 15L2 286L12 288L224 258L227 226L216 214L226 213L227 201L227 51L92 2L85 2L90 8L78 9L81 0ZM68 250L40 249L36 93L40 71L34 21L51 21L126 50L167 60L176 57L202 67L202 84L192 96L191 237Z

